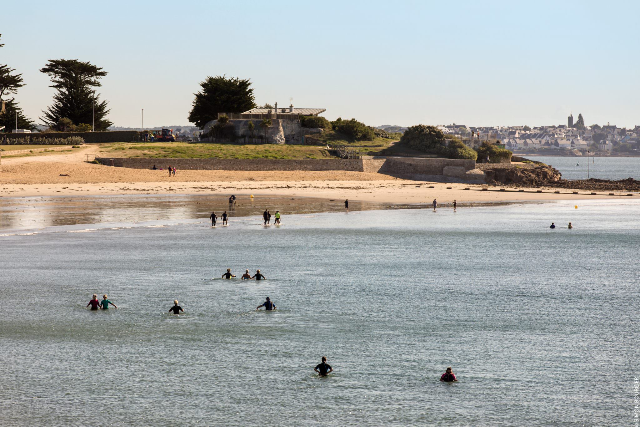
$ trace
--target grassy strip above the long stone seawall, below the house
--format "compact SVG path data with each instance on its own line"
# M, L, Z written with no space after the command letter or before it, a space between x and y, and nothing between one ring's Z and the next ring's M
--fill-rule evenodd
M152 159L323 159L333 158L313 145L218 144L194 142L118 142L100 146L99 157Z

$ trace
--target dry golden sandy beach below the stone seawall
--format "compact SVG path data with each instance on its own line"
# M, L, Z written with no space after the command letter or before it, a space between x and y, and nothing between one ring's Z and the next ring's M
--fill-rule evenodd
M234 193L399 204L426 204L434 198L446 204L454 199L458 203L483 203L628 197L626 193L591 195L591 191L573 194L575 190L556 193L556 188L518 191L511 187L500 191L493 186L407 181L381 173L345 171L179 170L176 177L169 177L164 170L115 168L84 162L85 154L98 151L99 147L92 145L69 153L3 157L0 197Z

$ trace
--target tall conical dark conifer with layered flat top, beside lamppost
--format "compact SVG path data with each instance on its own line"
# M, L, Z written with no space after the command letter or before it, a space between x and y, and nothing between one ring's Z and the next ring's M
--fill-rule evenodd
M102 86L99 80L107 75L102 68L89 62L62 59L49 60L40 71L51 77L50 87L58 91L53 95L53 104L42 111L40 120L44 125L57 129L58 122L65 117L74 125L91 125L94 102L95 130L106 131L113 125L105 118L110 111L108 102L100 101L100 95L95 93L95 88Z

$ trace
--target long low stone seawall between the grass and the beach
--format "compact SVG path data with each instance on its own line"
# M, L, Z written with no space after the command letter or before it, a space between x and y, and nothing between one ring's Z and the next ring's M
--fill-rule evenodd
M178 170L348 170L351 172L390 173L393 175L447 175L463 177L476 168L473 160L428 159L418 157L381 157L374 159L130 159L96 157L102 165L133 169Z

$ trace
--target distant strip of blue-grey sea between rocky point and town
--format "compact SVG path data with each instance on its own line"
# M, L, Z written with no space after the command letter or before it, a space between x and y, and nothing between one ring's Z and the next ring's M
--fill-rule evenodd
M525 158L527 156L524 156ZM561 157L531 156L532 160L552 165L564 179L640 179L640 157ZM589 170L587 170L589 163Z

